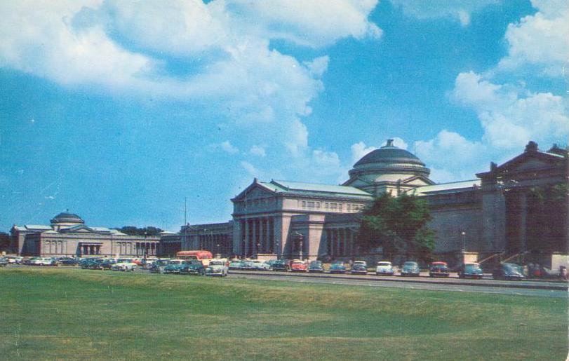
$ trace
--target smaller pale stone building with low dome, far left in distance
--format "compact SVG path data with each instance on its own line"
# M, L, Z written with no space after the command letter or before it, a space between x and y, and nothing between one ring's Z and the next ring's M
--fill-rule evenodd
M14 225L11 252L26 256L144 257L157 253L158 236L128 236L116 229L86 226L81 217L62 212L49 226Z

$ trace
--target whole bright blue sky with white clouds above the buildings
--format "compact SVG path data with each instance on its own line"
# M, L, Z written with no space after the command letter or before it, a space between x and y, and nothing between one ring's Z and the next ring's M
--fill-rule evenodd
M569 136L564 0L0 2L0 231L227 222L396 139L435 182Z

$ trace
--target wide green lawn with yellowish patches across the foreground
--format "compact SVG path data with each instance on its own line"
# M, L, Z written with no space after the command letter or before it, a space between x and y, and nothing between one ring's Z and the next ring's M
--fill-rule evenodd
M0 269L0 359L565 360L568 300Z

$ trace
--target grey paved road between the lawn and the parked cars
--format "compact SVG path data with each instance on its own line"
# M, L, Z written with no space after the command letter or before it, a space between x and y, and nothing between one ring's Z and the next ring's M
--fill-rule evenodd
M470 282L464 282L464 285L457 285L447 282L436 282L441 280L427 279L401 279L391 278L384 280L381 278L370 278L370 276L354 276L354 278L330 278L323 275L321 277L303 277L302 275L291 276L283 273L249 273L249 272L232 272L230 278L247 278L262 280L285 280L291 282L313 282L324 283L328 285L358 285L368 287L396 287L408 288L412 290L434 290L434 291L455 291L455 292L479 292L489 294L515 294L520 296L538 296L538 297L568 297L567 290L543 290L535 288L518 288L506 287L500 283L488 285L488 281L482 281L481 285L473 285ZM417 282L419 281L419 282ZM500 282L500 281L494 281ZM515 282L515 281L511 281ZM535 283L535 282L533 282ZM548 282L549 283L549 282Z

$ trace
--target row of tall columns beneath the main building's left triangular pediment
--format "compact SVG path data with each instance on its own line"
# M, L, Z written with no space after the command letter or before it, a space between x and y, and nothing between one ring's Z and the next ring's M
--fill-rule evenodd
M277 253L274 217L249 218L239 222L241 222L241 254L248 257L260 253Z

